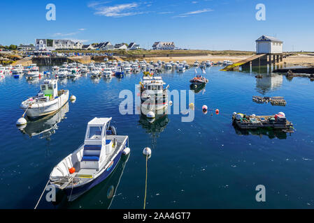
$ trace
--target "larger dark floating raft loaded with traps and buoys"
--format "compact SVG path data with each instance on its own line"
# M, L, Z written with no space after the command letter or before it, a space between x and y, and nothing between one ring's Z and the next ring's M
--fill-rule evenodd
M271 128L283 130L284 132L294 132L293 124L287 121L285 114L280 112L274 116L251 116L234 112L232 123L242 130L252 130L258 128Z

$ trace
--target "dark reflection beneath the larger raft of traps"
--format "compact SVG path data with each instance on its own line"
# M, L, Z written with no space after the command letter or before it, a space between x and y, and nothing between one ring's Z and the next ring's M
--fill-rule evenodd
M273 129L255 129L255 130L241 130L240 128L234 126L234 130L238 135L256 135L263 137L263 135L269 137L269 139L287 139L287 133L282 130L273 130Z

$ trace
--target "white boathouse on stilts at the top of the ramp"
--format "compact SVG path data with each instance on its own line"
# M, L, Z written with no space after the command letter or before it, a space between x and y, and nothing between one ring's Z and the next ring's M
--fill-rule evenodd
M261 36L256 40L257 54L282 54L283 41L271 36Z

